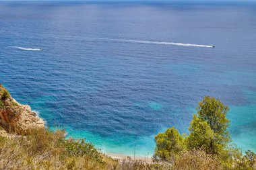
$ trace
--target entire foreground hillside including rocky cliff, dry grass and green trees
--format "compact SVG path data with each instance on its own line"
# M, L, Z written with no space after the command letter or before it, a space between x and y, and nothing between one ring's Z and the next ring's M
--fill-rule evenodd
M65 130L45 128L28 105L12 99L0 85L0 169L253 170L255 153L242 153L232 144L228 110L219 99L205 96L193 115L189 134L170 127L155 136L153 163L130 157L116 160L85 139L66 138Z

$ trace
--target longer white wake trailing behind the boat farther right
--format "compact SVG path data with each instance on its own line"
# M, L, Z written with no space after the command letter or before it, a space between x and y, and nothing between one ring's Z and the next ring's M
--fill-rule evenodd
M162 44L162 45L171 45L171 46L197 46L197 47L207 47L213 48L214 45L200 45L200 44L186 44L186 43L178 43L178 42L160 42L160 41L148 41L148 40L125 40L125 39L112 39L112 38L90 38L94 40L105 40L112 42L131 42L131 43L139 43L139 44Z

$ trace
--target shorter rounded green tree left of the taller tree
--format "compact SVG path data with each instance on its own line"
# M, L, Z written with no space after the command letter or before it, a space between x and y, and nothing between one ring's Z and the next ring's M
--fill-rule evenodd
M185 150L185 138L174 127L156 135L155 141L154 161L158 161L158 159L170 161L175 154Z

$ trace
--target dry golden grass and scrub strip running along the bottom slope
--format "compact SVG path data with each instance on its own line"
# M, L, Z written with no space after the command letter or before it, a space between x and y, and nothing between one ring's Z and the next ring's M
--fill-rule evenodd
M148 164L131 159L117 161L100 153L84 140L65 139L65 131L34 130L29 136L0 137L0 169L108 169L167 170L221 169L203 151L183 152L170 163Z

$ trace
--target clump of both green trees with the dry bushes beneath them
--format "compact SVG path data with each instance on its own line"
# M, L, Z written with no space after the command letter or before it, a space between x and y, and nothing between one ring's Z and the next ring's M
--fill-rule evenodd
M193 115L188 135L171 127L155 136L153 160L170 163L172 169L255 169L255 153L243 155L232 144L228 110L219 99L205 96Z

